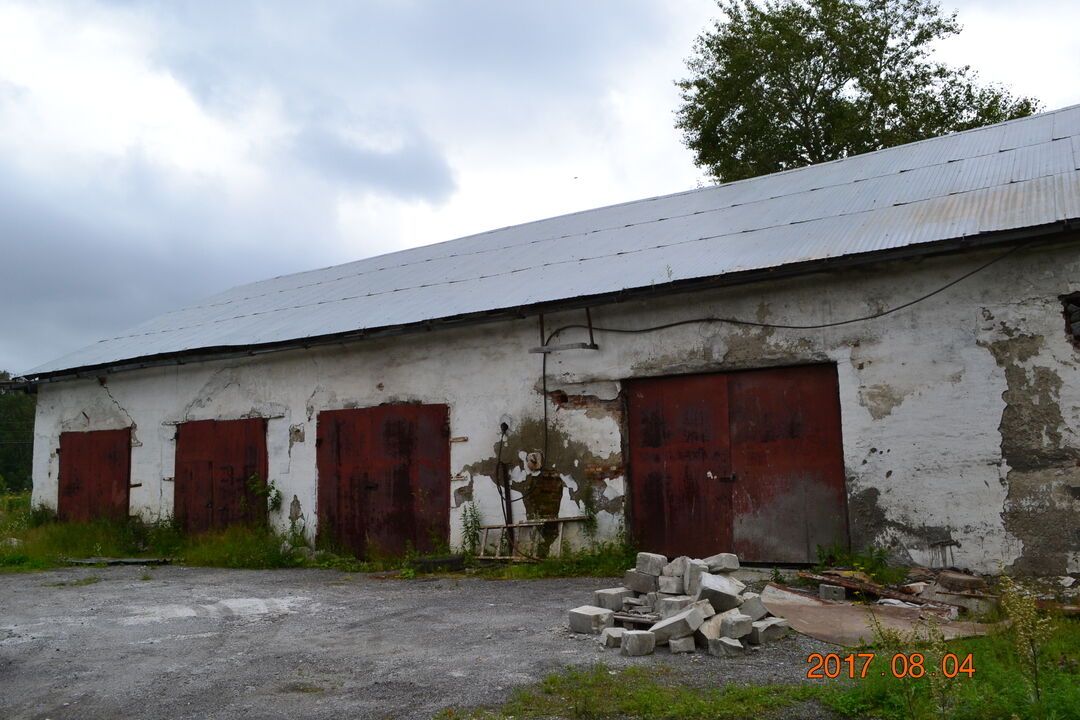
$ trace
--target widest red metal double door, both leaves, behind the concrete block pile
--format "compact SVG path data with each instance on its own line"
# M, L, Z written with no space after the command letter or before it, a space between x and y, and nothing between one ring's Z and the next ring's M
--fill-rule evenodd
M631 518L643 548L813 562L847 544L833 365L635 380Z

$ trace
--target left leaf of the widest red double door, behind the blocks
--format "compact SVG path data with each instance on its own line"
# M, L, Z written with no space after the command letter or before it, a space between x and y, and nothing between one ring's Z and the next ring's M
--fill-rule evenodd
M731 547L727 376L635 380L629 396L634 538L670 557Z

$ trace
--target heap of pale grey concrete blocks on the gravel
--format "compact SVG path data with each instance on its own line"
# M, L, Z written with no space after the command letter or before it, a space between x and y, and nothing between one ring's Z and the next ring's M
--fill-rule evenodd
M621 586L596 590L593 604L570 611L570 629L599 635L623 655L648 655L664 646L673 653L741 655L783 637L789 626L770 616L758 595L734 578L738 569L731 553L671 561L638 553Z

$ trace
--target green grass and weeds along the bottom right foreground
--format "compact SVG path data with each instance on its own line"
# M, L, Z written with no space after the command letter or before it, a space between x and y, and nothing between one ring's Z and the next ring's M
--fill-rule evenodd
M944 646L912 643L901 650L932 655L951 652L972 655L974 674L953 679L929 676L900 679L891 673L891 652L882 647L837 648L838 655L873 652L865 678L807 682L806 669L793 670L792 684L724 684L701 689L687 670L638 666L613 670L605 665L568 668L541 682L516 690L497 707L451 708L443 719L488 718L619 718L661 720L686 718L797 717L797 705L816 703L841 718L883 720L1074 720L1080 718L1080 621L1051 619L1051 633L1041 650L1041 701L1036 702L1024 673L1013 626L991 635L954 640ZM768 653L768 649L762 651ZM706 658L710 663L726 661ZM856 661L856 671L861 667ZM807 666L809 667L809 665ZM841 665L841 667L847 667ZM721 668L723 669L723 668ZM931 663L926 663L927 673ZM882 677L881 673L886 675ZM691 670L692 673L692 670ZM723 675L723 674L721 674ZM936 683L936 687L933 685ZM699 683L700 684L700 679Z

